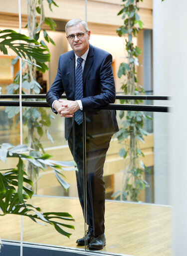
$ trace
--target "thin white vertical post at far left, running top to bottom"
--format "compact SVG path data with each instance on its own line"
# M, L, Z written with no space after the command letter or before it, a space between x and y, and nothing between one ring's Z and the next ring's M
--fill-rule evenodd
M19 33L21 33L21 2L18 0L19 11ZM19 40L19 43L21 41ZM19 116L20 116L20 144L23 143L23 131L22 131L22 59L19 57ZM23 216L21 216L21 234L20 234L20 256L23 254Z

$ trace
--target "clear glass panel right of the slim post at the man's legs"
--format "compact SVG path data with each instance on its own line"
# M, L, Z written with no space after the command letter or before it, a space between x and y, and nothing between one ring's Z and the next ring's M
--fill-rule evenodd
M137 117L139 116L138 113L135 111L127 113L125 111L124 117L120 119L119 114L122 115L122 112L117 111L120 131L112 136L108 149L108 144L105 144L105 142L110 140L109 133L116 130L115 118L109 111L102 111L98 111L91 118L89 114L86 114L87 197L88 194L92 194L93 197L96 196L98 199L98 203L94 204L93 211L97 214L95 221L99 223L100 228L103 223L101 208L103 192L98 187L102 189L105 182L106 246L100 252L142 256L149 254L170 255L172 253L172 207L170 206L168 182L170 179L168 156L169 114L146 113L153 116L153 119L150 119L150 124L154 130L152 131L149 126L144 125L145 131L142 131L146 134L143 135L144 141L139 134L137 148L133 148L135 154L133 155L131 150L130 156L128 148L130 141L132 143L133 140L124 131L123 134L126 139L122 139L121 128L128 124L126 121L127 115ZM111 119L113 122L111 122ZM137 120L141 121L139 118ZM97 150L95 150L93 144ZM123 147L124 149L122 149ZM132 161L136 152L138 152L138 158L135 159L133 165ZM105 161L103 173L102 158ZM97 166L97 163L101 164ZM90 175L90 172L92 175ZM104 182L102 181L102 174ZM89 190L90 176L94 177L91 191ZM136 185L133 183L135 178ZM89 198L87 198L87 202L88 200ZM90 211L90 208L88 211Z

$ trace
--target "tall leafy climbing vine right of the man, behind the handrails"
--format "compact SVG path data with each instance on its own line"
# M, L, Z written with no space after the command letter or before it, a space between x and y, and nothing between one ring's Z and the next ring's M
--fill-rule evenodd
M141 0L142 1L142 0ZM126 51L127 62L120 64L118 76L125 75L125 80L122 89L125 94L139 94L139 91L144 92L141 85L137 84L136 66L138 56L141 54L141 49L133 43L133 36L139 32L139 28L143 28L143 22L138 14L137 3L139 0L123 0L123 8L118 15L122 15L124 25L117 29L119 36L126 36ZM141 100L121 100L121 103L128 102L136 104ZM119 155L125 160L122 191L117 191L113 196L120 200L138 201L140 190L149 186L144 179L145 171L150 171L145 164L140 161L139 157L144 156L140 148L140 141L144 142L144 136L148 132L144 130L144 118L151 118L142 111L120 111L120 118L124 119L119 131L116 133L118 141L123 144L119 151Z

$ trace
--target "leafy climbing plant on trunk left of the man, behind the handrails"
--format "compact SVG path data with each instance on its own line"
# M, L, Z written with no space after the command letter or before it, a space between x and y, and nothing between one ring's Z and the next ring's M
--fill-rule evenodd
M48 4L50 10L52 11L51 5L58 6L54 0L27 0L27 29L28 35L31 39L38 41L38 43L48 50L44 40L40 39L40 34L43 34L43 37L46 42L51 42L55 45L52 38L49 36L47 31L42 27L43 23L47 24L51 30L55 30L55 22L44 15L44 5ZM39 20L36 18L39 16ZM49 53L48 53L49 54ZM41 58L42 59L42 58ZM15 57L12 60L12 64L15 64L18 60L18 57ZM47 59L46 61L49 61ZM40 93L42 89L41 85L37 82L36 71L45 72L48 69L46 61L40 61L36 59L33 62L35 65L30 63L23 62L22 64L22 93L23 94L34 94ZM9 84L6 89L8 94L19 93L19 71L14 77L13 83ZM31 99L31 100L33 100ZM48 128L51 125L51 119L54 116L47 112L46 109L42 107L23 107L22 119L23 125L26 125L28 128L28 136L25 138L25 143L28 144L30 148L33 148L34 151L30 151L29 154L34 156L37 154L38 150L42 150L45 153L44 148L41 143L41 137L46 133L48 139L53 142L52 136L49 133ZM19 122L19 107L8 106L6 108L8 118L12 118L16 115L16 122ZM33 180L33 188L35 193L37 193L37 180L40 177L39 168L34 166L32 163L28 162L26 166L26 173L29 178ZM39 175L40 174L40 175Z

